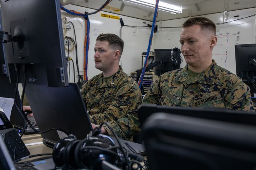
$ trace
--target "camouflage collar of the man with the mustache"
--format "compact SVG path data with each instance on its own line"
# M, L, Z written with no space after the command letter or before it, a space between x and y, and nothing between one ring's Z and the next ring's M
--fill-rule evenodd
M122 73L122 67L119 66L118 71L113 75L112 79L107 80L107 82L103 82L103 73L101 73L100 78L97 81L97 84L99 84L98 88L114 87L121 73Z

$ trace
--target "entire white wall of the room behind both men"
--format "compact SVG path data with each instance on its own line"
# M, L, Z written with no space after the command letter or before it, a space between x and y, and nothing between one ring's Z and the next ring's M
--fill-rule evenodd
M69 10L75 10L84 13L94 12L95 10L79 7L76 5L66 5L65 8ZM244 18L249 15L256 13L256 8L250 8L245 10L229 11L228 20L235 20ZM95 68L94 64L94 45L96 37L100 33L114 33L120 36L121 24L118 19L110 19L101 17L101 14L115 15L108 12L98 12L94 15L89 15L91 28L90 28L90 46L88 53L88 78L92 78L94 75L100 73ZM234 17L239 15L239 17ZM74 23L76 29L77 45L78 45L78 63L80 73L83 74L84 65L84 37L85 37L85 19L83 17L77 17L67 14L62 11L62 16L66 16L68 21ZM123 19L125 25L131 26L146 26L149 23L145 20L135 19L127 16L116 15ZM212 19L215 23L223 22L223 13L204 15L204 17ZM187 18L174 19L167 21L157 22L159 27L177 27L187 20ZM151 23L150 23L151 24ZM169 49L173 47L179 47L179 36L181 28L158 28L157 33L154 34L154 40L152 42L151 50L154 49ZM149 43L149 35L151 29L145 28L131 28L122 27L121 38L124 40L124 52L122 54L122 68L128 74L141 67L141 53L146 52ZM67 36L73 37L73 28L68 30ZM256 16L249 17L246 19L238 20L231 23L225 23L217 26L216 35L218 37L217 46L213 49L213 59L221 66L233 73L235 71L235 44L251 44L256 43ZM67 54L67 52L66 52ZM75 61L75 53L71 55ZM183 57L183 56L182 56ZM186 65L183 58L181 67ZM77 81L76 73L76 81ZM73 67L71 67L70 82L73 82Z

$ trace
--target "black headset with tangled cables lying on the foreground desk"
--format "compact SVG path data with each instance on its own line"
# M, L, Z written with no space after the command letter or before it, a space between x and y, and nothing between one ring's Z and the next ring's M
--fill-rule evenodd
M109 136L100 134L100 127L90 132L83 140L77 140L76 136L72 134L60 139L52 152L56 167L101 170L102 161L105 160L114 166L122 167L122 169L128 167L129 170L134 170L132 165L135 163L138 165L136 169L142 169L139 162L144 161L144 158L129 152L125 147L116 146ZM136 162L130 162L128 158L135 159Z

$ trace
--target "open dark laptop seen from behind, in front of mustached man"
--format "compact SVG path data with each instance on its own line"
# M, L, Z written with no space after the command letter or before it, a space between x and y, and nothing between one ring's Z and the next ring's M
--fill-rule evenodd
M60 128L81 140L92 131L87 109L76 83L69 83L66 87L27 84L26 95L41 132L50 128ZM66 137L65 133L58 130L42 133L41 136L43 143L48 147L54 147L59 139ZM114 137L111 138L116 141ZM137 153L146 153L142 144L127 140L120 142L128 143Z

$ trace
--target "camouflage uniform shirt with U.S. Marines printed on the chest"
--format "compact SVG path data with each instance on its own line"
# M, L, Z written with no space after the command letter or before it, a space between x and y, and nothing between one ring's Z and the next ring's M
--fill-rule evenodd
M250 88L238 76L219 67L214 60L194 79L189 78L188 65L164 73L150 86L143 103L254 110Z

